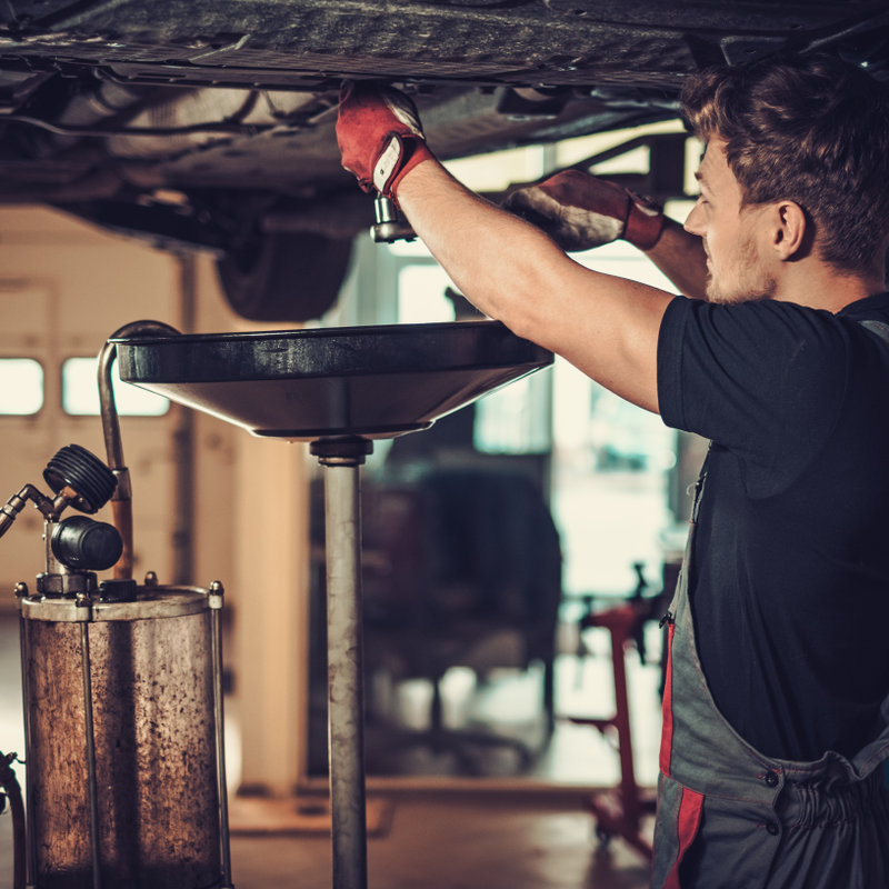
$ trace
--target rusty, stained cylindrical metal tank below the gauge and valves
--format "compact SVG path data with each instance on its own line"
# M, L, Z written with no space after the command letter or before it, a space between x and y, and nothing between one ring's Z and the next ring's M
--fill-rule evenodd
M139 587L132 601L91 602L86 620L71 598L20 600L37 889L220 885L219 665L208 598L196 587ZM84 639L96 762L92 841Z

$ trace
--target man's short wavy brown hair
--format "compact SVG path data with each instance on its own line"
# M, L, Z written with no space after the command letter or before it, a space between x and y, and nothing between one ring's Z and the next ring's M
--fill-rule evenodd
M881 268L889 238L889 90L830 56L711 69L682 88L689 124L726 142L746 203L792 200L825 262Z

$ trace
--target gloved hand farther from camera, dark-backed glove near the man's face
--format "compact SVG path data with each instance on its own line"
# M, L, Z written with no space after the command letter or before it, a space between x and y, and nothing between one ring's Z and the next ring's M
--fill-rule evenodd
M648 250L666 220L651 201L580 170L562 170L513 191L503 208L542 229L562 250L589 250L619 239Z

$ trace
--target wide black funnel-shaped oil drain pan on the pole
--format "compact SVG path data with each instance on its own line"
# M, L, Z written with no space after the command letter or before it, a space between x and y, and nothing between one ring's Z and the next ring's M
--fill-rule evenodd
M552 363L497 321L124 338L120 378L257 436L393 438Z

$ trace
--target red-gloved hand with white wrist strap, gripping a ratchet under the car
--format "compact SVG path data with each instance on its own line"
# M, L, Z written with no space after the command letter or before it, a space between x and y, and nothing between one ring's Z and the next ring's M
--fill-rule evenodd
M393 200L404 174L434 157L413 102L403 92L370 81L342 84L337 143L342 166L358 184Z

